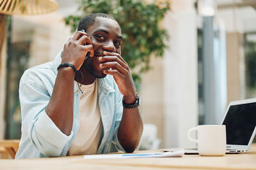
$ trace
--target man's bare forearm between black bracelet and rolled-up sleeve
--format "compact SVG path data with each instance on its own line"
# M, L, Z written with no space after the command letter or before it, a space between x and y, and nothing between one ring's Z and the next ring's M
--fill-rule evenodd
M61 67L58 71L52 96L45 112L66 135L72 131L74 103L74 70Z

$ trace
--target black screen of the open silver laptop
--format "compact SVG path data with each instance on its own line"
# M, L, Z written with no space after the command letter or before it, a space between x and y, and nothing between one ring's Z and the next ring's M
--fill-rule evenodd
M223 125L228 145L248 145L256 126L256 103L230 106Z

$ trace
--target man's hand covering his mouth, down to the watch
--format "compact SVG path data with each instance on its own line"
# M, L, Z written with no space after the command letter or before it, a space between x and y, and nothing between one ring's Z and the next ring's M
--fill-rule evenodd
M103 54L104 57L99 57L99 61L102 62L100 68L104 69L103 73L114 77L121 94L124 95L125 103L134 103L136 89L127 62L118 53L104 51Z

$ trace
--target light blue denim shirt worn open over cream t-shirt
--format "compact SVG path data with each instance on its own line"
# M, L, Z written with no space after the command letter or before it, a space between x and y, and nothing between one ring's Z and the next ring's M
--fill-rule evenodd
M20 79L22 135L15 159L65 156L77 134L81 92L76 83L74 83L73 127L69 136L63 134L45 113L60 63L61 53L52 62L26 70ZM111 143L115 144L119 150L124 151L117 138L123 113L122 94L120 94L113 76L98 78L97 93L103 124L97 153L108 153Z

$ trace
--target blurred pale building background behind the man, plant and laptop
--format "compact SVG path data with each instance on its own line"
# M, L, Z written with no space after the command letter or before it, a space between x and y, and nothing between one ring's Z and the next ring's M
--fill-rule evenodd
M64 18L78 15L79 4L56 2L58 10L44 15L1 14L0 139L20 139L24 71L53 60L73 35ZM145 1L154 2L160 1ZM169 36L167 48L141 73L140 149L194 146L187 138L191 127L220 124L230 101L256 95L256 1L168 3L159 22Z

